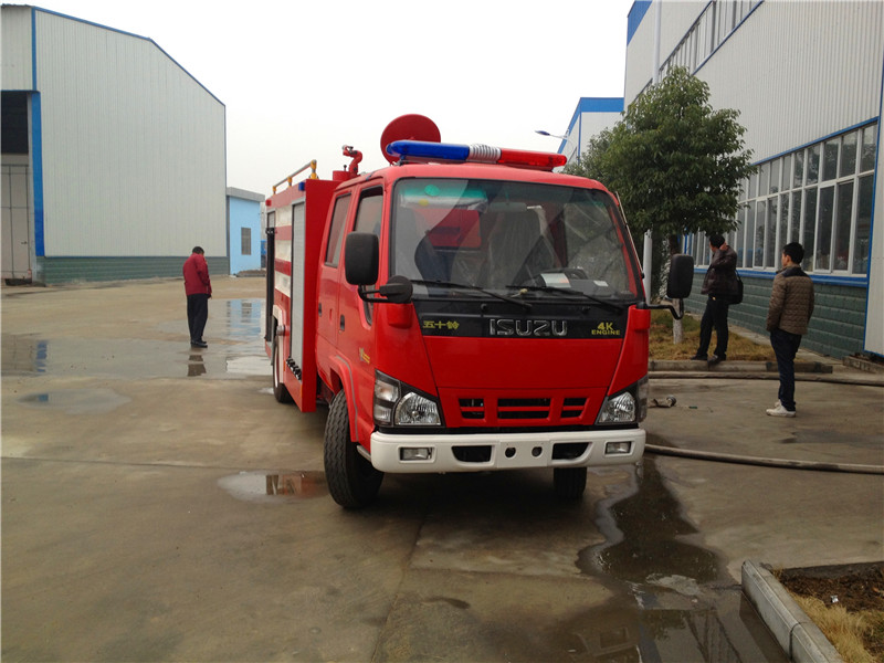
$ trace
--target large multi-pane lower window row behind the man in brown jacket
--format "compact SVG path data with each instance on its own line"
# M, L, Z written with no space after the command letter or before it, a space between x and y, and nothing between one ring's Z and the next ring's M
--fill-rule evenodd
M876 134L873 123L759 164L727 235L737 266L777 271L782 246L801 242L806 272L867 274ZM707 244L702 234L686 244L698 265Z

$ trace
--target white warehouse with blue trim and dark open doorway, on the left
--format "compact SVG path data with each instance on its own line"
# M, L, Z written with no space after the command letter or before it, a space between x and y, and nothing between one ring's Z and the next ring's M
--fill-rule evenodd
M228 272L224 105L154 41L2 7L4 278Z

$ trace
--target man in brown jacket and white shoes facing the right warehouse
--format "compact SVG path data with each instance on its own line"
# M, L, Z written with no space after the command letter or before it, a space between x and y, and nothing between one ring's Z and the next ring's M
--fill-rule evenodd
M803 270L804 248L791 242L782 248L782 271L774 277L767 311L767 330L777 356L780 390L770 417L794 417L794 356L813 315L813 282Z

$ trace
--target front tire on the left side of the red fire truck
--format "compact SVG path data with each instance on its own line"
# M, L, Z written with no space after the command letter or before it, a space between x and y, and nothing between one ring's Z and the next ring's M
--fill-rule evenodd
M350 440L350 417L343 390L338 391L328 409L323 456L328 492L335 502L344 508L362 508L375 501L383 472L362 457Z

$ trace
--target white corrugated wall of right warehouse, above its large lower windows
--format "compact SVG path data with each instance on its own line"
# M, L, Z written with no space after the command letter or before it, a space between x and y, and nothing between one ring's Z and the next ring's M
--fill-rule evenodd
M765 160L876 117L882 52L882 2L767 1L697 76Z

